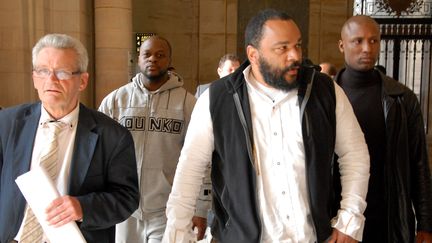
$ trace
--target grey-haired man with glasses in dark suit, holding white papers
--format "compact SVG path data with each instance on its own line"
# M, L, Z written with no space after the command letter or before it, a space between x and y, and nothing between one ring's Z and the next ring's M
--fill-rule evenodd
M46 35L33 47L32 61L41 102L0 111L0 242L47 241L38 223L30 226L36 218L15 179L48 165L42 155L49 127L55 126L60 129L58 145L45 169L60 197L47 207L47 223L60 227L76 222L87 242L112 243L115 225L138 207L132 136L80 104L89 74L87 51L77 39Z

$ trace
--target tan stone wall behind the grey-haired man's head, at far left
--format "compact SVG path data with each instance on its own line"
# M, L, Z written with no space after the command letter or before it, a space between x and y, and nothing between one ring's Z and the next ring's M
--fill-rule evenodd
M66 33L93 46L92 9L86 0L0 0L0 106L38 99L31 78L31 49L43 35ZM89 53L92 60L91 48ZM89 87L82 100L93 105L93 98Z

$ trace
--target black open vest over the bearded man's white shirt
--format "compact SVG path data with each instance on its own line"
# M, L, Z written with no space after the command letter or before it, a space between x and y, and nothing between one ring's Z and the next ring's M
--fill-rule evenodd
M212 183L214 237L220 242L253 243L261 240L256 193L252 120L243 70L210 86L214 152ZM333 154L336 134L336 98L333 81L313 68L303 68L298 100L306 156L308 194L319 242L332 232L336 215ZM319 92L317 92L319 90Z

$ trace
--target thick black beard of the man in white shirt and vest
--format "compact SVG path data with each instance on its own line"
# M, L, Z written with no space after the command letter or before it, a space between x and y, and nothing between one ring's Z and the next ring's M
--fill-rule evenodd
M278 68L272 68L270 64L267 62L267 60L264 59L264 57L261 55L258 60L258 68L261 72L261 75L264 78L264 81L272 86L273 88L283 90L283 91L290 91L292 89L295 89L299 86L299 82L297 80L294 80L292 83L289 83L285 79L285 74L290 71L294 67L299 67L299 62L294 62L290 66L284 68L284 69L278 69Z

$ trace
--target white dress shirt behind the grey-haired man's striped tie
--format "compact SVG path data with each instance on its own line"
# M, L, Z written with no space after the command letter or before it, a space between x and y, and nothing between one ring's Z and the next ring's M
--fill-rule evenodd
M68 193L70 167L72 162L73 148L75 144L76 128L78 125L78 114L79 114L79 104L77 104L76 108L71 113L57 120L59 122L64 123L64 127L61 129L60 133L57 136L58 148L59 148L58 150L59 163L57 166L57 170L58 170L57 180L54 181L54 185L56 186L61 196L64 196ZM55 119L53 119L45 110L43 105L41 105L41 116L39 119L39 126L36 131L36 137L33 145L33 153L32 153L31 166L30 166L31 170L40 166L39 163L40 163L41 153L45 146L45 141L48 138L48 131L49 131L48 125L46 123L52 120ZM15 237L15 240L17 240L18 242L21 237L26 218L27 218L27 214L24 215L24 219L21 224L20 230L18 231L18 234ZM49 242L46 239L46 237L44 237L43 241Z

